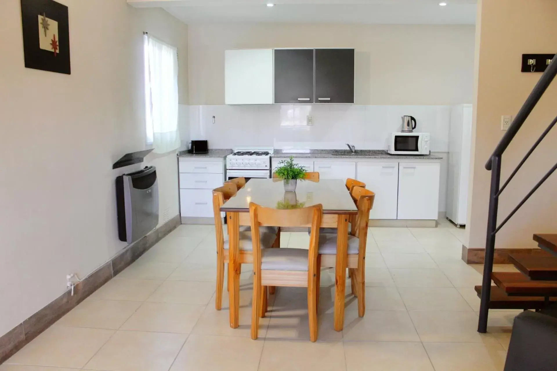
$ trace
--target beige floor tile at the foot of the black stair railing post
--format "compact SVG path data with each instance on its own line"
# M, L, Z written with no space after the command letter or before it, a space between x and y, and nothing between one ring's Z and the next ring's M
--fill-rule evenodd
M422 342L493 343L489 334L477 332L473 311L411 311L410 317Z

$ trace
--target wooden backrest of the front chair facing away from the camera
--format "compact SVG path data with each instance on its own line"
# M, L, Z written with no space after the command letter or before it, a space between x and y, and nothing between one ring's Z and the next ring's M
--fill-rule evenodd
M253 265L261 265L261 246L259 241L259 226L304 227L311 226L310 246L308 252L309 264L317 262L317 245L319 244L319 228L323 206L321 204L301 209L271 209L250 202L250 219L253 244ZM257 265L258 264L258 265ZM309 269L309 268L308 268Z

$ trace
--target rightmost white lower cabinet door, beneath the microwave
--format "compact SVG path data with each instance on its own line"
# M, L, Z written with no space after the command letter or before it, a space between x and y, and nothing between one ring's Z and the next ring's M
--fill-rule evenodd
M398 219L437 219L440 167L439 163L400 162Z

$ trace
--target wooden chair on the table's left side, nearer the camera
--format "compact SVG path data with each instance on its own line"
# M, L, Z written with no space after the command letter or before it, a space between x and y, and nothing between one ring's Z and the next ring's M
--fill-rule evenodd
M221 310L222 306L222 290L224 284L224 264L228 263L228 234L224 235L222 229L221 206L224 201L235 196L237 192L236 185L233 183L225 183L222 187L213 190L213 213L214 213L214 229L217 237L217 293L215 295L214 307ZM277 235L271 232L271 229L261 229L261 233L257 233L258 246L261 248L271 248L275 244ZM240 263L252 263L252 234L249 230L240 230Z

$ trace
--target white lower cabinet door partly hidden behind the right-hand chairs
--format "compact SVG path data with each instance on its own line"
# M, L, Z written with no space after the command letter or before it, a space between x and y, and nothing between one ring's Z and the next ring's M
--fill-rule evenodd
M398 162L358 162L358 180L375 192L369 219L397 219Z

